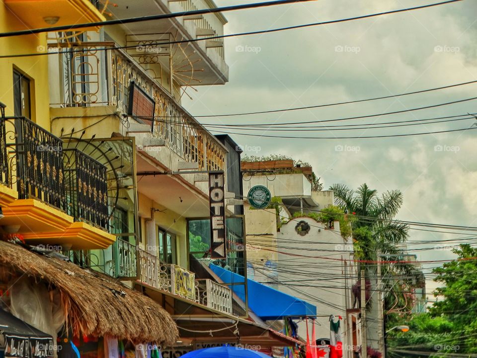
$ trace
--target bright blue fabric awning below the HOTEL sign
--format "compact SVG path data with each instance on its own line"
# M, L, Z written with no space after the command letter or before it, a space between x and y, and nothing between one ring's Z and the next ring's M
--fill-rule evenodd
M245 283L245 277L210 265L210 269L224 283ZM245 301L245 286L235 284L229 286L242 301ZM317 307L286 293L277 291L262 283L247 279L248 307L263 320L275 320L285 316L316 316Z

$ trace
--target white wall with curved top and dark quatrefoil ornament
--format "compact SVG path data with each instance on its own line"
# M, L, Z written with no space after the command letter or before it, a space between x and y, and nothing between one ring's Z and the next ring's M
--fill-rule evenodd
M310 232L304 236L299 235L295 230L301 220L311 227ZM319 324L316 326L317 339L329 339L329 315L341 315L343 344L351 345L351 342L347 341L350 335L347 334L346 308L351 308L353 303L350 287L354 284L356 276L349 272L348 267L346 269L348 279L345 279L345 264L340 260L350 259L351 254L346 251L349 251L351 246L350 242L344 241L339 234L339 223L335 222L334 228L328 230L314 219L296 218L284 224L277 237L278 251L283 252L283 254L278 253L279 280L285 283L277 288L316 305L317 315L325 316L317 318ZM290 254L310 256L310 258L290 256ZM352 279L349 278L351 274L353 274ZM348 288L347 291L345 287ZM299 334L306 338L304 322L299 323Z

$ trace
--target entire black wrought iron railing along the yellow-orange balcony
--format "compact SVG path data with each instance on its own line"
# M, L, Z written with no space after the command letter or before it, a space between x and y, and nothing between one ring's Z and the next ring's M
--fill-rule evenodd
M19 199L36 198L108 229L106 167L25 117L0 120L0 180Z

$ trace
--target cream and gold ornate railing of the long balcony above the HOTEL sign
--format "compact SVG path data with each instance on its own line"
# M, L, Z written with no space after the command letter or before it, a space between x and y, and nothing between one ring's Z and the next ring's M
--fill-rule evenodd
M71 56L60 57L66 63L61 74L63 99L54 105L113 105L128 113L129 89L134 82L154 99L153 136L163 139L165 146L184 161L197 163L199 170L224 169L226 151L222 144L131 56L122 50L98 51L87 43L72 46L70 51ZM102 88L100 81L104 68L107 88Z

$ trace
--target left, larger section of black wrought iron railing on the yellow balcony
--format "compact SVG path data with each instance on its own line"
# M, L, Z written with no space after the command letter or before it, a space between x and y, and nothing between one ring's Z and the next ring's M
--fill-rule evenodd
M63 142L25 117L7 117L6 143L12 151L9 183L16 183L18 198L35 197L66 210Z

